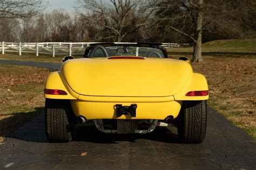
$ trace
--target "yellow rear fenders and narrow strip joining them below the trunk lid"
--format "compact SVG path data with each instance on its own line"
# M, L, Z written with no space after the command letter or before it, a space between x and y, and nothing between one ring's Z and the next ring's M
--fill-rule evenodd
M51 95L44 94L45 98L49 99L80 99L83 101L122 101L129 102L134 101L133 97L104 97L104 96L85 96L80 95L74 92L69 85L66 83L65 79L62 77L60 72L55 71L49 74L48 79L45 83L45 89L57 89L64 90L68 93L68 95ZM165 97L136 97L136 101L140 102L164 102L164 101L172 101L172 100L206 100L207 96L196 96L189 97L185 96L189 91L199 91L199 90L208 90L206 78L199 73L192 73L192 76L188 78L183 89L173 96L165 96Z

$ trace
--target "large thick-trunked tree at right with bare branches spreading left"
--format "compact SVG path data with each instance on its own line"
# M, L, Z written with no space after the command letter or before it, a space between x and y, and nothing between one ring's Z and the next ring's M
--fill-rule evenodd
M151 1L149 5L158 18L154 25L163 27L164 30L175 30L190 38L194 44L193 59L201 62L202 31L208 24L203 23L204 0Z

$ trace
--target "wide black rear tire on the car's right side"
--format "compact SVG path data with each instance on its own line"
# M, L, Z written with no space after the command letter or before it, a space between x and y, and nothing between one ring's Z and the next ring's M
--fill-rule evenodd
M204 141L207 125L206 100L184 101L177 119L181 142L199 144Z

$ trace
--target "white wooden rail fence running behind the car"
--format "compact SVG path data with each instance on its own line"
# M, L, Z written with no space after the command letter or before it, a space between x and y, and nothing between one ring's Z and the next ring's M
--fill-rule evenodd
M85 47L89 46L89 44L96 42L82 42L82 43L9 43L2 42L0 44L0 49L2 50L2 54L5 52L19 53L19 56L22 53L35 53L36 56L41 55L52 55L55 57L56 55L83 55ZM136 43L132 43L136 44ZM191 44L176 44L176 43L163 43L164 47L188 47Z

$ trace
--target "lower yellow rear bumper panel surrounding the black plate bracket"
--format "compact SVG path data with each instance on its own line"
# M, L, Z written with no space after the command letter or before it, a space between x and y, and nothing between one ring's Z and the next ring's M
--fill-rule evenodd
M91 119L159 119L164 120L168 116L176 118L179 114L182 101L167 102L96 102L83 100L70 100L73 112L78 117L82 115L87 120ZM136 117L130 115L116 116L114 105L122 104L130 106L137 104Z

